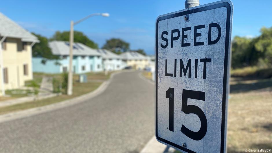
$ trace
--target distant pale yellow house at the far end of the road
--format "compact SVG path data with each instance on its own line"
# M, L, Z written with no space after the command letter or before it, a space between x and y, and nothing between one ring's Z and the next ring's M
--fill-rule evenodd
M144 69L149 65L149 58L136 51L126 51L120 54L120 56L127 66L131 66L133 69Z

